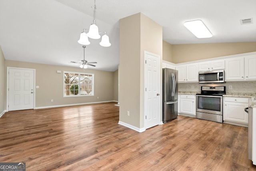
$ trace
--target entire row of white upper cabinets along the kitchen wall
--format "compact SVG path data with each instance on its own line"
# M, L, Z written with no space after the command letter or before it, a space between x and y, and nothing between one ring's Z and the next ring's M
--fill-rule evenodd
M163 68L178 70L178 82L198 82L198 72L225 70L225 81L256 80L256 52L174 64L162 61Z

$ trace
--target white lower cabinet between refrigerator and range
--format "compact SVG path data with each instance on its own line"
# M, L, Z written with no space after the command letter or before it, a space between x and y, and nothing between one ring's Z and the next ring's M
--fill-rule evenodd
M196 95L181 94L179 99L179 113L196 116Z

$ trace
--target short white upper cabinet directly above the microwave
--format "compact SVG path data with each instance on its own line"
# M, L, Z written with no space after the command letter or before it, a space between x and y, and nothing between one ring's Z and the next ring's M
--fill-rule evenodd
M210 62L200 62L198 71L224 70L225 60L214 60Z

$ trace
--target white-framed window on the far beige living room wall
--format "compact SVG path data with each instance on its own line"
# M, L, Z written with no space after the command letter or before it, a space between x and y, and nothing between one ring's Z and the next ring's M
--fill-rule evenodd
M94 95L94 74L65 72L64 97Z

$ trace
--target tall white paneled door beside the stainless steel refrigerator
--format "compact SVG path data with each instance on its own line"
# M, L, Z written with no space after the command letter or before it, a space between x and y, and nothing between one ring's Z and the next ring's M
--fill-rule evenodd
M144 52L145 129L160 124L160 56Z

